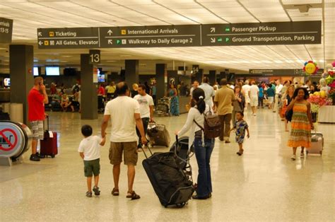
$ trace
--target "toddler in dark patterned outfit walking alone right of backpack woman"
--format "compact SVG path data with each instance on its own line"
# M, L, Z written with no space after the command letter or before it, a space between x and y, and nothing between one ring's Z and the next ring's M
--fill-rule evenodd
M247 122L243 119L245 115L243 112L236 112L236 122L233 127L233 129L230 129L230 132L232 132L235 129L235 140L239 146L239 151L236 153L238 156L241 156L243 154L243 141L245 140L245 131L247 131L247 138L249 138L249 126Z

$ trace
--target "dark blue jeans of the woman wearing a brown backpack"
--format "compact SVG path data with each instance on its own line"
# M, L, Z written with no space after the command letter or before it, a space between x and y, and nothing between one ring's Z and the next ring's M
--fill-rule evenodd
M205 139L204 144L201 138L196 136L194 139L194 151L199 168L196 194L199 197L207 197L212 192L211 165L209 163L214 144L215 139Z

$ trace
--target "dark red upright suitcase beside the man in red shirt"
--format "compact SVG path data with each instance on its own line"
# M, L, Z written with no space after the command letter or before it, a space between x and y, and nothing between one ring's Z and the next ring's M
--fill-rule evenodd
M44 139L40 141L41 143L41 155L51 156L54 158L58 154L57 146L57 132L52 132L52 136L49 133L49 117L47 117L47 130L45 130Z

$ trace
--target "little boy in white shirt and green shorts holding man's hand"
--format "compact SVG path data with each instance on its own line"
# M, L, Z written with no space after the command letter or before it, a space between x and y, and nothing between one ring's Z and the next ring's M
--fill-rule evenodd
M94 175L93 192L95 196L100 195L98 187L99 174L100 174L100 146L104 146L106 136L103 138L99 136L92 136L93 129L89 125L81 127L81 134L85 137L79 145L78 152L83 158L84 173L87 177L88 192L86 197L92 197L92 177Z

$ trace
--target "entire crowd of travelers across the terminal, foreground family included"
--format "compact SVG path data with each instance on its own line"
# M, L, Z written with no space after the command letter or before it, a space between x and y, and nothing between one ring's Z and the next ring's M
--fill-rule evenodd
M178 95L182 89L170 85L168 94L170 96L172 115L179 115ZM73 100L62 90L55 90L52 86L51 104L59 103L65 111L71 108L74 111L76 103L80 105L80 86L72 88ZM235 142L238 144L237 155L244 153L243 143L245 137L249 138L249 125L244 119L245 112L251 107L252 116L257 115L258 109L268 107L272 112L278 112L285 122L285 129L288 131L290 124L290 136L288 146L293 148L292 160L296 158L297 148L301 147L300 158L304 158L304 148L310 147L311 129L314 128L310 103L307 102L309 93L313 93L320 86L315 86L307 81L305 84L293 84L279 80L270 83L251 81L239 81L235 84L228 83L223 78L220 84L212 86L208 77L204 77L202 83L194 81L190 88L189 111L187 120L181 129L175 131L175 135L182 136L189 134L189 148L194 146L196 161L198 163L199 175L197 180L196 194L193 199L208 199L212 195L211 184L211 153L216 139L208 139L204 136L204 117L216 114L221 122L221 132L218 140L225 144L230 143L230 134L235 132ZM184 92L183 92L184 93ZM146 129L148 123L153 122L156 88L155 83L149 85L134 83L131 88L125 82L115 84L111 82L108 86L100 84L98 96L108 101L104 107L102 119L101 136L93 136L93 129L84 125L81 129L84 139L78 148L81 158L84 161L85 176L88 182L86 197L100 195L98 180L100 174L100 146L105 144L106 129L108 122L112 122L110 129L110 163L113 165L114 188L113 196L119 196L119 175L122 160L127 165L128 189L127 198L139 199L140 196L134 191L135 166L138 160L139 148L148 143ZM42 121L45 119L44 104L49 103L48 96L43 85L43 79L35 78L35 85L28 96L29 119L33 126L32 156L30 160L38 161L37 141L43 137ZM288 112L290 117L288 117ZM122 159L122 156L124 158ZM91 183L94 175L94 186Z

